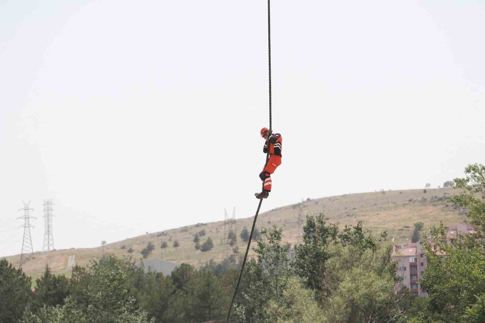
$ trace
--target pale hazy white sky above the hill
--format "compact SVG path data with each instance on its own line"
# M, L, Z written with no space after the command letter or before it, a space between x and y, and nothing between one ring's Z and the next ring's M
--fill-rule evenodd
M0 1L0 256L253 216L266 1ZM261 211L433 187L484 162L483 1L273 1Z

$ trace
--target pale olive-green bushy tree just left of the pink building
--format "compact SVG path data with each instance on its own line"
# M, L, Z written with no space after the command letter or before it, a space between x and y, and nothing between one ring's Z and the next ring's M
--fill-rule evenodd
M327 292L322 303L325 322L405 322L414 295L407 288L395 291L401 278L396 274L392 244L385 242L385 234L380 239L365 236L359 225L347 233L354 236L350 243L328 247L333 256L322 273Z

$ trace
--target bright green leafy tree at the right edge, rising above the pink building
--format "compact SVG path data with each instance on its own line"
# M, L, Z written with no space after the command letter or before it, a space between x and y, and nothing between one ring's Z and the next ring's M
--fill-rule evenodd
M420 285L429 296L420 322L469 322L480 318L485 293L485 166L469 164L465 174L465 178L454 179L455 188L463 191L453 195L451 201L467 208L475 233L460 234L449 244L447 230L440 222L430 229L431 243L426 235L421 239L429 260Z

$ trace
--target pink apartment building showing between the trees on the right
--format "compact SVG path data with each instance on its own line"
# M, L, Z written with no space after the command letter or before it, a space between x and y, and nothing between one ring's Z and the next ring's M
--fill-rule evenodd
M449 226L447 229L449 243L453 243L453 240L458 238L459 233L474 233L472 226L464 224ZM431 242L431 238L428 238L428 242ZM402 285L396 284L396 289L406 286L416 295L427 297L428 293L422 291L418 283L427 266L427 259L420 242L409 242L404 245L396 244L393 246L392 256L398 261L398 275L403 277Z

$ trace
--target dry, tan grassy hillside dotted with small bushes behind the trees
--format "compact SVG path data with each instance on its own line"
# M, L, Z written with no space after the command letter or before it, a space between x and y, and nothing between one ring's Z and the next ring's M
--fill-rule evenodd
M423 222L427 232L433 224L443 220L445 225L456 225L464 222L466 216L457 206L447 201L453 194L459 193L453 188L423 190L386 191L359 194L344 194L329 196L319 199L302 201L297 204L277 208L259 214L257 226L268 227L274 224L283 227L283 240L291 244L301 241L302 225L306 213L323 212L327 222L339 222L340 227L355 225L357 221L363 221L364 228L371 229L375 233L387 230L390 238L395 238L396 243L410 242L414 229L413 223ZM239 233L243 227L248 229L252 226L252 217L237 219L237 237L240 252L245 251L245 243L241 241ZM163 258L174 262L186 262L196 267L204 265L206 261L214 259L220 261L223 254L224 221L196 224L176 229L149 233L123 241L113 242L104 246L106 252L117 256L129 255L127 250L131 247L134 259L139 260L140 251L148 242L155 244L155 250L148 258ZM194 249L194 234L205 229L206 235L200 237L200 243L210 237L214 242L214 248L209 252L200 252ZM178 248L173 247L173 242L180 243ZM160 248L161 242L166 241L168 247ZM232 248L231 248L232 250ZM231 251L230 251L231 252ZM70 276L67 268L69 256L75 256L78 265L85 266L90 259L102 255L101 247L86 249L65 249L46 252L37 252L35 259L28 261L22 267L23 270L37 278L44 272L46 261L52 272ZM249 256L254 256L250 250ZM18 267L20 255L6 257L8 261Z

